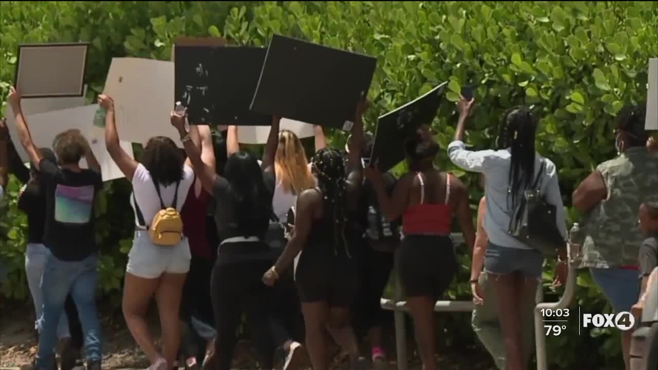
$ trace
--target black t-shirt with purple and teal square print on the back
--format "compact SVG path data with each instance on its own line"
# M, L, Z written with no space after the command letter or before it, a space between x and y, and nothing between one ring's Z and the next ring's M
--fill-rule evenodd
M43 244L63 261L82 261L97 250L94 199L103 180L98 172L61 169L55 162L39 162L46 194Z

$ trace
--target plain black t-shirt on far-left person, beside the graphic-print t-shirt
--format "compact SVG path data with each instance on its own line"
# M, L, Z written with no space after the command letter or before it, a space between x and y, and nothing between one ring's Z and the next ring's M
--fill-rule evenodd
M31 180L18 198L18 209L28 216L28 243L43 243L46 196L38 180Z

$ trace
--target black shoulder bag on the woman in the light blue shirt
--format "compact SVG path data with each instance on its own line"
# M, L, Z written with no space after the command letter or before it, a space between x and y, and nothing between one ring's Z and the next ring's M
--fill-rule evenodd
M542 251L544 255L557 255L565 240L557 228L555 205L549 204L541 193L545 161L532 185L526 189L509 223L509 233L520 242Z

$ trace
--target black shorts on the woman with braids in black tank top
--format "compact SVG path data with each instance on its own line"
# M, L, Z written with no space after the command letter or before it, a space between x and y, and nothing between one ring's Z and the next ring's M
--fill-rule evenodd
M358 288L357 259L344 252L334 254L333 246L305 248L299 255L295 284L303 303L326 301L329 305L351 305Z

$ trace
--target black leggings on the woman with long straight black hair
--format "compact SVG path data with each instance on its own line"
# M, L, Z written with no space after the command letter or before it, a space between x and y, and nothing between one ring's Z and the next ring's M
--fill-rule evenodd
M217 338L218 370L229 370L242 313L251 340L261 357L261 368L274 368L274 336L270 329L272 289L262 282L272 266L272 251L262 242L235 242L220 246L211 282Z

